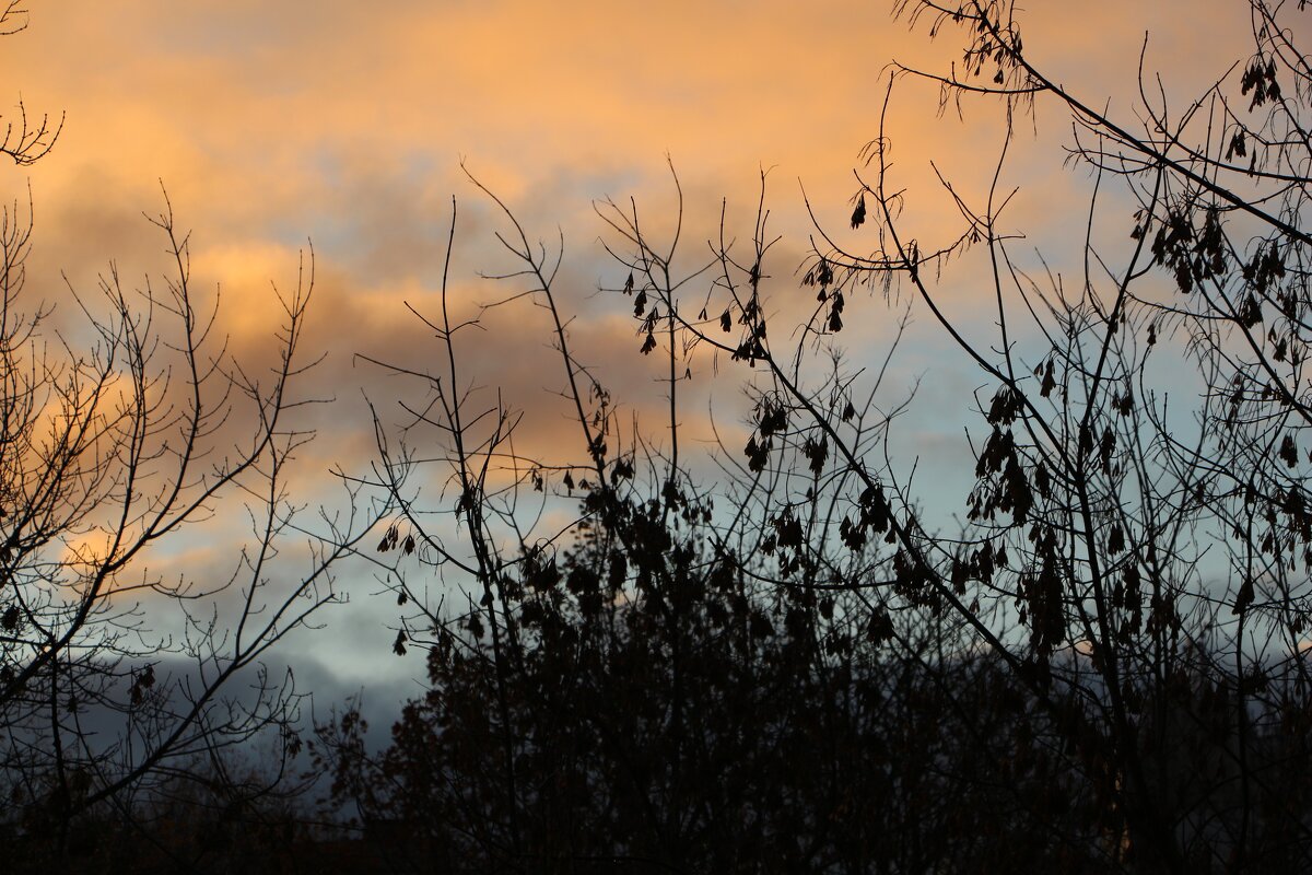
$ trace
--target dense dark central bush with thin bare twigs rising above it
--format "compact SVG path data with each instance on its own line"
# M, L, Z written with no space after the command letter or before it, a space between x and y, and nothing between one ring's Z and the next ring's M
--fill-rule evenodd
M1114 841L1084 763L1008 655L897 580L887 502L853 513L859 480L817 449L800 408L753 390L771 424L752 441L769 446L743 462L724 450L722 484L676 467L676 388L668 432L607 455L623 443L569 352L558 252L504 220L514 268L499 278L541 308L580 439L555 459L514 450L521 420L500 392L459 388L476 386L462 350L485 325L445 295L419 316L441 369L383 365L422 399L375 409L375 472L401 509L377 561L408 611L395 649L426 651L429 689L380 754L354 708L316 744L335 799L388 837L377 851L451 871L1103 871ZM677 387L680 341L695 336L647 307L694 285L672 279L677 247L653 252L635 214L615 227L647 247L617 290L640 311L635 345ZM736 268L710 264L722 293ZM848 399L841 373L830 362L819 384ZM886 415L858 404L836 416L876 450ZM400 438L388 407L404 412ZM573 516L547 527L560 518L547 509ZM436 592L421 585L433 572Z

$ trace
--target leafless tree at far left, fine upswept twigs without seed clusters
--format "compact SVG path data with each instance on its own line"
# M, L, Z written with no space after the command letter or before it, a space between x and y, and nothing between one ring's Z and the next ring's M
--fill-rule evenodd
M8 4L0 29L18 16ZM18 164L58 134L21 108L7 130ZM348 488L311 525L289 493L320 400L299 390L312 252L269 295L272 361L243 363L167 197L147 218L172 275L130 289L112 266L94 294L68 289L56 327L26 287L30 219L0 214L0 821L33 859L76 849L92 813L133 823L156 782L222 773L261 733L295 754L303 693L265 660L337 600L332 565L379 512ZM243 523L219 564L169 568Z

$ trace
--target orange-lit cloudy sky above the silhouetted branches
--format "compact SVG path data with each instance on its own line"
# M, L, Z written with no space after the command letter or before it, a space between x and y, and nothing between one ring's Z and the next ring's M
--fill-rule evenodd
M1033 7L1021 14L1035 60L1130 118L1145 31L1148 68L1183 94L1240 56L1248 26L1246 4L1224 0ZM112 262L131 282L167 273L163 240L143 218L163 209L163 188L192 232L193 286L220 290L219 325L234 354L258 359L278 319L270 283L294 287L312 244L306 342L327 357L306 391L335 400L316 408L319 437L298 459L307 502L328 493L329 467L361 470L373 458L366 397L391 425L400 421L396 401L409 390L357 353L421 366L438 352L407 304L426 311L437 300L453 197L455 306L472 314L514 290L479 278L508 266L493 236L505 226L462 161L530 236L551 245L563 237L562 302L580 358L628 409L656 416L663 388L653 362L636 354L628 307L597 291L622 278L594 203L632 197L646 227L668 234L669 161L685 195L681 264L691 266L716 234L722 199L729 228L750 232L768 171L771 228L783 235L773 289L786 310L813 232L803 192L827 230L854 249L869 245L848 234L846 219L890 62L942 70L959 51L954 33L932 42L886 0L30 0L28 10L28 28L0 41L0 114L12 118L21 98L29 114L64 118L46 159L0 169L7 202L31 192L28 294L67 304L68 287L94 289ZM1008 167L1023 192L1009 218L1060 265L1071 228L1082 227L1088 180L1056 148L1068 134L1061 117L1040 106L1036 119ZM966 195L981 195L998 115L977 105L941 115L933 87L907 83L890 130L899 173L918 195L908 222L929 239L953 215L930 159ZM991 331L977 278L959 270L942 285L945 300L963 324ZM845 349L878 362L895 317L878 296L862 307ZM950 495L971 460L963 420L939 412L962 409L983 380L913 316L890 376L890 399L920 386L897 446L912 460L934 457ZM523 412L520 449L544 455L569 439L547 327L541 310L522 306L489 317L478 342L462 346L470 379ZM710 434L712 404L718 425L740 425L737 384L711 374L710 362L698 363L684 412L694 442ZM925 487L938 488L934 479ZM222 542L182 552L213 558ZM333 645L303 635L289 661L336 683L328 699L366 682L386 686L382 699L417 691L421 657L388 656L392 597L367 579L341 582L352 605L327 621Z

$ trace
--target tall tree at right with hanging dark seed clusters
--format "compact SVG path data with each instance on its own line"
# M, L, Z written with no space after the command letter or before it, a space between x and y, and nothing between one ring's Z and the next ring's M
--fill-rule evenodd
M778 582L841 581L871 598L875 621L916 606L959 618L1077 752L1106 862L1131 867L1298 868L1312 853L1305 796L1287 779L1308 757L1312 83L1295 37L1303 4L1250 8L1252 55L1181 109L1143 76L1127 123L1027 60L1012 4L897 4L932 34L960 28L964 64L891 71L851 241L817 227L803 277L816 307L800 331L779 331L766 296L764 209L748 251L732 234L712 247L705 296L685 289L702 268L678 273L677 237L652 239L636 207L606 210L642 352L664 328L672 345L764 374L743 457L749 479L778 487L756 517L770 523L760 547L781 554ZM1000 105L1006 142L981 202L939 176L954 230L905 218L912 193L886 125L908 79L937 83L941 109ZM1012 125L1039 101L1069 113L1090 180L1076 282L1026 266L1001 219L1017 198ZM1115 209L1123 231L1099 236L1096 216ZM985 278L996 335L946 303L963 274ZM857 303L869 289L911 291L993 383L958 537L924 523L908 472L854 425L866 378L833 367L833 336L869 312ZM1173 373L1197 374L1198 404L1169 395ZM798 476L799 457L816 483ZM854 550L883 537L891 563L829 577L834 535Z

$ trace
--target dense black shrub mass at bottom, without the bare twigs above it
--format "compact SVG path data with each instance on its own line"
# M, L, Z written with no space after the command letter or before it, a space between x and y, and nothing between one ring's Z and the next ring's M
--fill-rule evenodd
M697 500L681 499L682 525L664 506L617 509L622 551L593 534L504 581L518 641L505 677L474 613L430 647L430 691L386 753L366 754L354 714L325 736L338 796L400 828L394 863L1138 868L1124 775L1080 686L1054 682L1040 702L942 610L762 585L752 571L768 569L716 546ZM1054 661L1096 674L1075 653ZM1235 678L1179 666L1153 697L1138 756L1187 863L1207 871L1245 834L1256 871L1305 865L1305 697L1282 689L1281 712L1242 728Z

